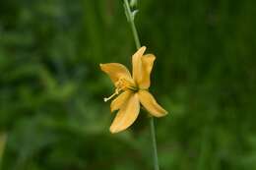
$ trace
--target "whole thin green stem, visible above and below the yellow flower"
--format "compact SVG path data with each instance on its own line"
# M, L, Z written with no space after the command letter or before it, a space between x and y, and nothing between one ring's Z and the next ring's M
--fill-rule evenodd
M140 38L138 35L138 31L134 24L134 16L131 12L131 8L129 6L128 0L124 0L124 9L126 13L127 20L130 24L130 27L133 32L134 41L136 44L137 49L141 47ZM159 166L159 158L158 158L158 147L157 147L157 140L156 140L156 133L155 133L155 125L154 125L154 118L150 118L150 130L151 130L151 138L152 138L152 149L153 149L153 158L154 158L154 169L160 170Z

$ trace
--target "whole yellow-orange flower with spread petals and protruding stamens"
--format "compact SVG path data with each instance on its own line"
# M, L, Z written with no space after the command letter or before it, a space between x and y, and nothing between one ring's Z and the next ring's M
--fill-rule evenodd
M153 54L143 55L145 50L143 46L132 56L133 76L122 64L100 64L101 70L115 85L115 92L104 98L104 101L118 95L110 105L111 112L118 110L110 126L111 133L121 132L134 123L140 112L140 103L152 116L162 117L167 114L148 90L156 57Z

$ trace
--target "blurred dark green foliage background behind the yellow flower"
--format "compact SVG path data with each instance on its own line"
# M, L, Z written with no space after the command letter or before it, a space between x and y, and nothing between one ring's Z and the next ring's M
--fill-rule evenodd
M162 170L256 169L256 1L141 0L136 25L157 62ZM153 169L145 113L111 135L99 63L131 66L121 0L0 2L3 170ZM4 152L1 157L1 152Z

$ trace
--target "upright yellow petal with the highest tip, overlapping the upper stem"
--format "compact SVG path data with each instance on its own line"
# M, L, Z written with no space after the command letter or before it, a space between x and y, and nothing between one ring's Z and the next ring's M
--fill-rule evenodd
M141 47L135 54L132 56L133 64L133 79L136 84L141 80L141 70L142 70L142 56L146 51L146 46Z

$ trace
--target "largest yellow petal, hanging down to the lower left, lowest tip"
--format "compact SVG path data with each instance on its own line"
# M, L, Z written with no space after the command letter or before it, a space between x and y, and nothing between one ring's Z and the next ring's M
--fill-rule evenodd
M131 95L127 103L125 103L118 111L114 118L112 125L110 126L111 133L119 133L128 127L130 127L137 119L140 112L139 97L135 93Z

